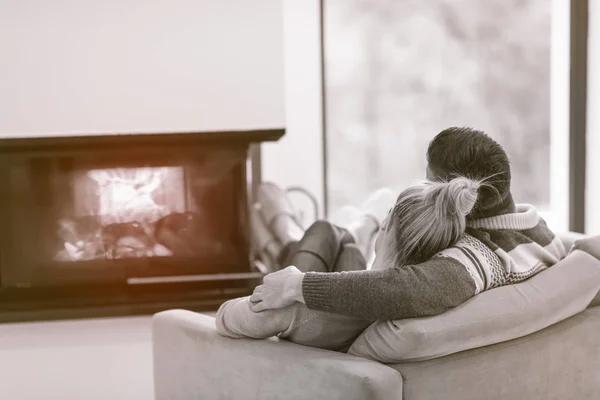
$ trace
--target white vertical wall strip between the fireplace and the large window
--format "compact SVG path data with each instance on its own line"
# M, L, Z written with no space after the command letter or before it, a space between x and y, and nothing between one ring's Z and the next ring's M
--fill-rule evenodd
M263 145L263 179L302 186L323 215L323 130L319 0L283 0L287 133Z

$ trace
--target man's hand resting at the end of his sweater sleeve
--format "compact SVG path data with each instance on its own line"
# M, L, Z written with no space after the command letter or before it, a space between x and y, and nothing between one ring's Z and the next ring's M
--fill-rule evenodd
M265 276L263 284L257 286L250 296L250 308L254 312L283 308L304 302L302 297L304 273L294 266Z

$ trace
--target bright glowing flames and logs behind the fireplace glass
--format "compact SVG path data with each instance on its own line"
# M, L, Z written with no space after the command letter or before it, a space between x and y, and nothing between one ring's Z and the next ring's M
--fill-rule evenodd
M183 167L91 169L74 174L73 186L75 217L57 221L55 261L206 251L195 235L204 210L186 196Z

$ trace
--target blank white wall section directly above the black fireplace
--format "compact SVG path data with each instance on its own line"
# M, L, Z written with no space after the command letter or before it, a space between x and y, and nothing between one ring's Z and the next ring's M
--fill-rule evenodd
M0 0L0 135L285 125L281 0Z

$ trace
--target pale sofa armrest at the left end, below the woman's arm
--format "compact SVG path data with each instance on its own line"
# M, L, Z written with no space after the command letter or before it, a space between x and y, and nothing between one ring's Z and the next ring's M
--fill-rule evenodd
M398 371L278 339L220 336L212 317L184 310L152 320L157 400L402 399Z

